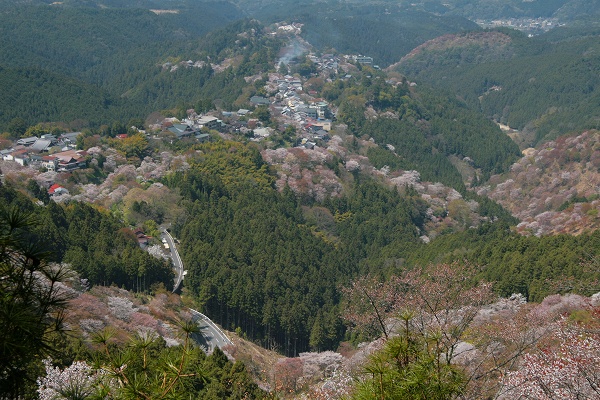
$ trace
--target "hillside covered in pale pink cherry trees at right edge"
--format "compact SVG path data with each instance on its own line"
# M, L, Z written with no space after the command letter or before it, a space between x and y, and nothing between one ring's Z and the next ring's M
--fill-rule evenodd
M598 131L561 136L529 149L510 172L493 176L478 193L498 201L534 235L580 234L598 228Z

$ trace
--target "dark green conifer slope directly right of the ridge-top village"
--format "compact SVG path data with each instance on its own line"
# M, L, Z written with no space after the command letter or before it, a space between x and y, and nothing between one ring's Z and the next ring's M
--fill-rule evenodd
M481 170L478 179L485 180L491 173L505 171L519 154L517 146L493 123L464 103L432 91L409 91L406 83L393 87L376 76L359 85L333 84L325 89L326 95L336 92L341 102L338 117L352 133L393 146L395 157L383 149L369 154L379 168L416 169L425 181L464 191L465 179L448 156L468 157ZM367 118L364 109L369 105L392 115Z

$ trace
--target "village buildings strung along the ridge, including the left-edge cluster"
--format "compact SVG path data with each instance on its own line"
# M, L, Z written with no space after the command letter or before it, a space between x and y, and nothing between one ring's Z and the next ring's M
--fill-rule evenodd
M299 29L299 28L296 28ZM285 29L284 29L285 30ZM354 63L370 65L372 59L360 56L338 57L325 54L321 57L309 55L317 71L324 76L342 73L342 79L351 79L347 71L356 67L345 60ZM189 63L185 64L187 67ZM195 65L192 65L195 66ZM124 140L132 134L142 134L148 141L164 141L173 143L173 140L192 140L190 143L203 143L213 136L232 138L237 135L249 138L252 141L263 141L276 132L292 132L289 139L297 147L314 148L317 143L323 145L329 140L332 129L332 119L335 118L335 109L331 109L328 102L316 97L317 91L304 90L307 79L300 75L284 75L270 73L264 91L268 96L255 95L248 99L248 108L237 111L217 110L207 114L198 114L195 110L187 111L186 118L178 119L167 117L149 124L147 130L130 127L128 133L119 133L114 136L117 140ZM267 114L260 112L262 117L255 118L259 111L267 110ZM269 121L273 121L269 123ZM55 131L56 128L53 128ZM58 130L60 131L60 130ZM40 172L64 173L88 166L90 159L97 154L88 154L84 147L86 144L97 143L96 140L87 143L82 132L42 133L38 136L29 136L18 139L4 150L0 151L2 160L13 162L21 166L28 166ZM87 135L89 136L89 135ZM47 188L55 182L44 181ZM54 193L54 192L53 192Z

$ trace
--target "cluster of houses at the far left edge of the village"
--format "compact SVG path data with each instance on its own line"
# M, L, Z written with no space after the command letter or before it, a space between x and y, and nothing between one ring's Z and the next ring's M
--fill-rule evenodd
M48 171L72 171L87 165L85 151L76 150L77 136L81 132L63 133L59 136L42 135L17 140L10 149L0 151L4 161L46 168ZM51 154L50 154L51 153Z

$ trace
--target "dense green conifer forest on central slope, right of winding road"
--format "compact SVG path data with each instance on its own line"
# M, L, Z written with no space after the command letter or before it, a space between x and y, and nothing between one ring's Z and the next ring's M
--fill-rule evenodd
M253 147L201 149L189 171L166 180L189 201L175 227L186 287L217 322L286 354L331 348L343 334L339 285L383 246L416 242L423 202L367 180L347 197L301 207L291 190L271 186Z

